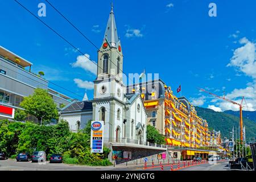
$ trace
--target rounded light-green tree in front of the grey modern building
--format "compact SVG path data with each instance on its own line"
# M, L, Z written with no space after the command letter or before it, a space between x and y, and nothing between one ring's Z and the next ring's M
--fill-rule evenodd
M52 97L47 93L47 90L44 89L35 89L34 94L24 97L20 106L25 109L26 114L31 114L38 118L41 125L43 119L50 121L51 119L58 118L56 104L52 100Z

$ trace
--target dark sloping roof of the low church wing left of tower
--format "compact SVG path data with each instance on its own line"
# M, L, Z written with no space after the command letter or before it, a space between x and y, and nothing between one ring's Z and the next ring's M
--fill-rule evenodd
M61 111L87 111L92 109L93 106L91 101L75 101L67 107L64 107Z

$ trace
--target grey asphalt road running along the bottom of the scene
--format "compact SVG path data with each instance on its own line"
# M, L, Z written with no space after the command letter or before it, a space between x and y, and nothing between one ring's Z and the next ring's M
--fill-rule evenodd
M175 171L226 171L228 169L228 161L217 162L216 164L197 164L196 166L190 166L183 168L183 164L180 164L180 168L177 169L177 164L174 164ZM164 164L163 170L170 171L170 165ZM148 166L144 169L143 166L128 166L118 165L116 167L90 167L79 166L72 164L58 164L58 163L31 163L31 162L16 162L13 159L0 160L0 171L161 171L160 165L156 164L154 168Z

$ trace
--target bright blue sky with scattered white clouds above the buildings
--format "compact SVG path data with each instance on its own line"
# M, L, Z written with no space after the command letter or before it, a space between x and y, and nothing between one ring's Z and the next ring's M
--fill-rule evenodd
M94 44L101 46L112 1L49 1ZM34 14L40 2L46 3L46 17L40 19L97 62L97 49L46 1L19 2ZM211 2L217 5L217 17L208 15ZM255 1L113 3L125 73L141 73L144 68L146 73L159 73L174 93L181 85L182 94L194 105L237 110L232 104L199 92L196 87L200 87L219 95L225 90L228 98L239 102L240 96L245 95L249 106L246 109L256 110ZM0 11L1 46L31 61L32 72L44 71L45 78L79 96L50 84L53 89L81 100L87 88L92 99L92 81L96 76L89 64L82 67L77 62L81 53L15 1L1 1L0 6L5 7Z

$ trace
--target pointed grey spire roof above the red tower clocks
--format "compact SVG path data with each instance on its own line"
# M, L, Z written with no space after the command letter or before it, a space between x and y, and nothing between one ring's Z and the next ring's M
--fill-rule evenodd
M106 26L104 39L107 39L110 46L112 46L112 47L117 47L118 42L119 42L119 38L118 38L118 35L117 35L117 26L115 25L113 3L112 3L111 11L110 11L110 14L109 14L108 24Z

